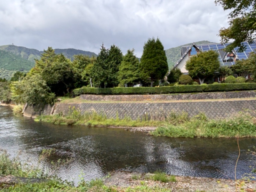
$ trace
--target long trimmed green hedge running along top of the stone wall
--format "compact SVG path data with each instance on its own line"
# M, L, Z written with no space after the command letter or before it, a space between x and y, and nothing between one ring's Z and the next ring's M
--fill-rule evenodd
M256 83L241 84L203 84L203 85L179 85L166 87L115 87L115 88L88 88L82 87L73 90L74 95L98 94L98 95L136 95L136 94L168 94L189 92L224 92L256 90Z

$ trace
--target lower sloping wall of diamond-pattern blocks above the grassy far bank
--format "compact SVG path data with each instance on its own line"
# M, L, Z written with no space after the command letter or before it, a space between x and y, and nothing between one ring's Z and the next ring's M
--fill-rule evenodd
M158 103L80 103L64 104L58 103L53 114L67 114L71 108L79 108L81 113L96 111L106 114L108 118L131 117L133 120L150 116L153 119L161 119L171 111L180 113L185 111L189 117L203 112L209 118L225 118L237 114L243 109L256 110L256 100L234 100L234 101L199 101L199 102L158 102Z

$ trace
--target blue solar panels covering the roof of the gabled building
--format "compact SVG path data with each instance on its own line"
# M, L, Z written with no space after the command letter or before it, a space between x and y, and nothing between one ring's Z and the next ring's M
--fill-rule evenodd
M220 51L224 48L226 48L226 46L228 46L230 43L226 43L226 44L204 44L204 45L197 45L201 51L209 51L209 50L215 50L216 52L219 53L219 60L220 60L220 66L231 66L234 65L235 62L224 62L220 56ZM243 60L243 59L248 59L249 54L251 52L255 52L256 50L256 42L253 42L252 44L248 44L248 42L243 42L242 44L245 45L245 50L243 52L238 52L238 47L235 48L235 51L233 50L233 52L237 55L238 58L236 58L236 60ZM189 46L187 46L187 49L189 48Z

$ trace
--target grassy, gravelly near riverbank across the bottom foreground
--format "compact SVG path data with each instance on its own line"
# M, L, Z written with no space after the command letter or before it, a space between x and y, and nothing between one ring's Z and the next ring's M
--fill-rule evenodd
M170 179L171 178L171 179ZM167 179L167 180L164 180ZM168 180L169 179L169 180ZM163 180L163 181L161 181ZM2 191L115 191L115 192L234 192L255 191L256 182L246 180L225 180L214 178L169 176L164 173L159 176L152 173L115 172L107 178L90 182L80 182L77 186L60 180L29 179L11 175L0 177Z

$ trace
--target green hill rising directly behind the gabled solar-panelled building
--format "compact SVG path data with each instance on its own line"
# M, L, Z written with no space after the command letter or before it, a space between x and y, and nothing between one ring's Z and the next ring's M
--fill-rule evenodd
M195 44L208 44L208 43L212 43L210 41L198 41L195 42ZM184 44L184 45L191 45L192 43L188 43L188 44ZM168 61L168 66L169 69L172 68L172 66L175 65L175 63L180 59L181 57L181 47L184 45L180 45L178 47L173 47L170 49L165 50L165 54L167 57L167 61Z

